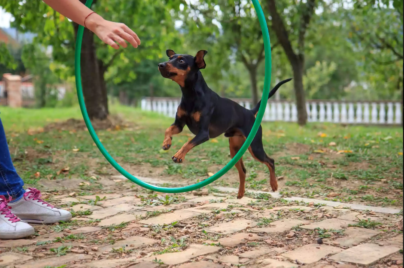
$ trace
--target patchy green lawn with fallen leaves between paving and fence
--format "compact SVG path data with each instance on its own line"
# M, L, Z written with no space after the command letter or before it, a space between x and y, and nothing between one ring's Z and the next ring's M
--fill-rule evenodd
M86 131L54 129L31 133L50 123L80 119L77 107L41 110L1 107L0 112L15 166L26 183L38 185L39 180L117 174ZM126 128L97 133L109 153L134 175L194 183L229 161L228 141L222 136L192 149L185 163L174 164L171 156L192 134L184 131L174 136L173 147L168 152L162 151L164 131L172 119L122 106L111 107L111 113L129 124ZM309 124L301 128L292 123L265 123L263 129L265 150L276 160L277 176L284 177L279 183L285 196L402 207L402 128L333 124ZM247 187L268 188L266 166L248 153L244 162ZM68 174L58 174L64 167L69 167ZM214 184L238 187L237 170L233 168ZM339 196L327 197L331 192Z

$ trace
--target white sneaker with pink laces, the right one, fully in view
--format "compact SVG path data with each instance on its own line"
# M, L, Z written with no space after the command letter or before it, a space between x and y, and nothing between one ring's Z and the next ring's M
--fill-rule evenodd
M72 218L70 212L55 208L40 199L40 196L39 190L28 188L23 198L8 206L12 213L28 223L50 224L69 221Z

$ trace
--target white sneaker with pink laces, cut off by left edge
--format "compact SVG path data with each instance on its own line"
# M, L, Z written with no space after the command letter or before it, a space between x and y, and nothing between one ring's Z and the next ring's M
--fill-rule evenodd
M4 196L0 195L0 239L19 239L31 236L34 233L35 230L32 226L22 222L17 216L12 214L7 200Z

